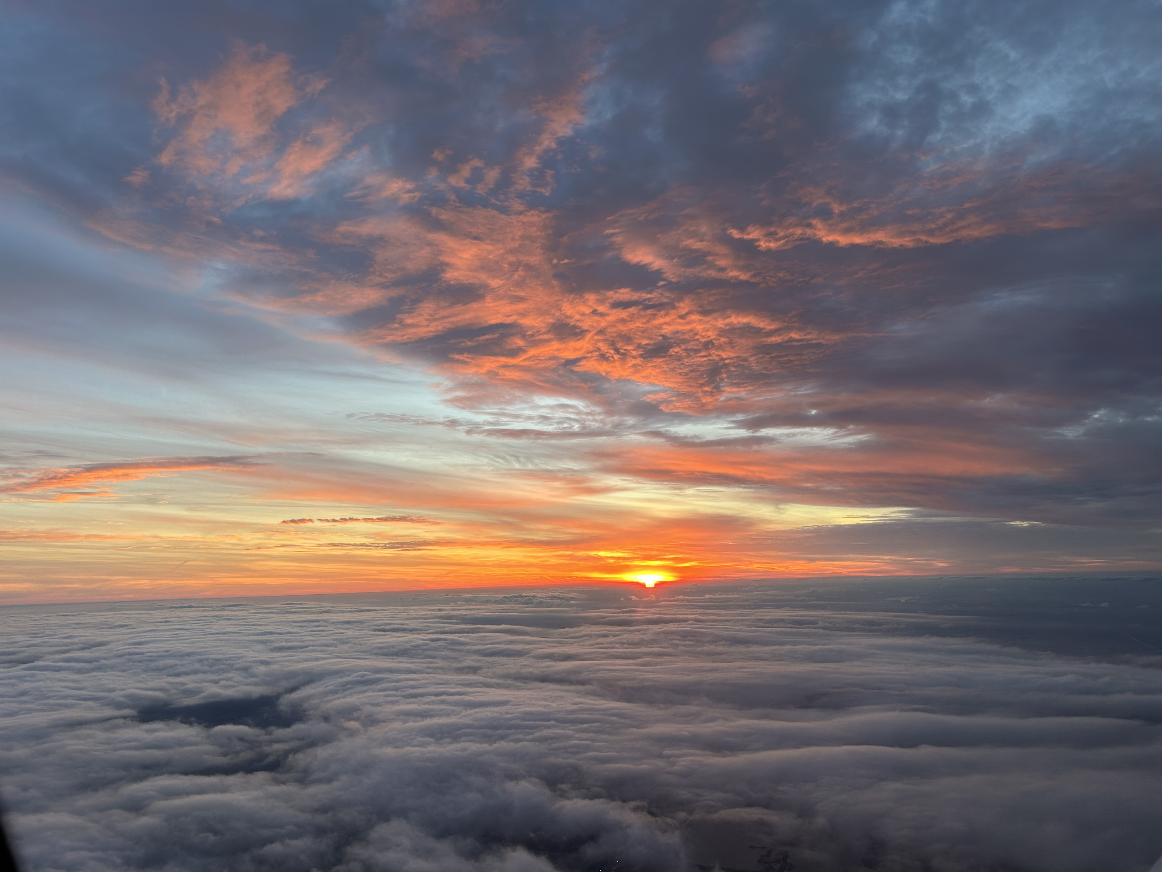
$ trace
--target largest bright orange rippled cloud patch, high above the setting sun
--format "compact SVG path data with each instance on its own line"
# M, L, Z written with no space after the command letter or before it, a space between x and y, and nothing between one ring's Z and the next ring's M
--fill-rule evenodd
M430 214L438 224L370 217L340 224L330 238L370 242L378 281L426 267L450 285L475 290L458 299L401 288L400 314L359 336L431 349L446 358L439 370L457 379L575 392L583 389L575 373L588 372L659 386L653 399L666 408L703 409L835 338L741 309L726 292L571 292L554 276L559 242L551 213L453 206Z

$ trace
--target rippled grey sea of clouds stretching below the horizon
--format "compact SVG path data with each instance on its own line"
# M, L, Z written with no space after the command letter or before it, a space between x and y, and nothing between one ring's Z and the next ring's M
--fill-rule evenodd
M1159 582L1056 603L1141 643L1098 655L935 587L7 608L9 834L27 872L1150 869L1162 656L1106 616Z

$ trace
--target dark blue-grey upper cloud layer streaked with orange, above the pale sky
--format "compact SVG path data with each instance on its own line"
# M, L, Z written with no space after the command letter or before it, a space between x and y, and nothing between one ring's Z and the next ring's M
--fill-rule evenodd
M196 309L230 359L278 334L429 373L436 400L366 392L343 414L402 431L451 403L466 423L444 457L481 479L1152 529L1153 6L655 6L28 12L6 73L16 213L170 278L130 300L100 258L26 280L52 256L14 252L20 342L136 349L148 378L172 348L178 384L220 357L172 338ZM29 77L48 57L69 87ZM65 290L78 276L91 291ZM583 427L550 420L578 408ZM235 414L202 448L96 456L227 456L314 427ZM333 469L349 438L290 449ZM261 499L431 515L390 477ZM483 506L512 480L466 489ZM554 522L589 541L581 514Z

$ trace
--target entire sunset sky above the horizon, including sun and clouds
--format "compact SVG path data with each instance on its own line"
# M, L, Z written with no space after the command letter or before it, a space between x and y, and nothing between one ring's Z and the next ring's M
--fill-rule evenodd
M0 599L1162 566L1153 0L10 0Z

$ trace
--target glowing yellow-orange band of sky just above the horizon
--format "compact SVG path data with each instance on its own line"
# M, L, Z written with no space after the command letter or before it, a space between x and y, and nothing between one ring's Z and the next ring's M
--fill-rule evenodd
M743 459L744 469L753 469L763 452L710 449L702 469ZM632 485L596 464L584 480L508 476L503 499L488 476L461 474L453 483L439 469L385 474L374 465L323 476L261 455L37 467L0 491L15 519L0 529L3 601L626 581L652 588L679 579L945 574L964 567L939 552L905 556L858 544L861 530L891 524L899 509L773 509L746 492L704 489L697 480L683 502L665 498L659 488L673 493L698 467L694 457L688 450L668 478L655 469ZM818 466L810 474L819 474ZM223 513L185 508L230 488L244 501ZM395 502L371 502L374 496ZM854 548L819 538L845 530ZM996 560L971 569L1061 571L1063 564ZM1122 559L1074 560L1068 569L1150 567Z

